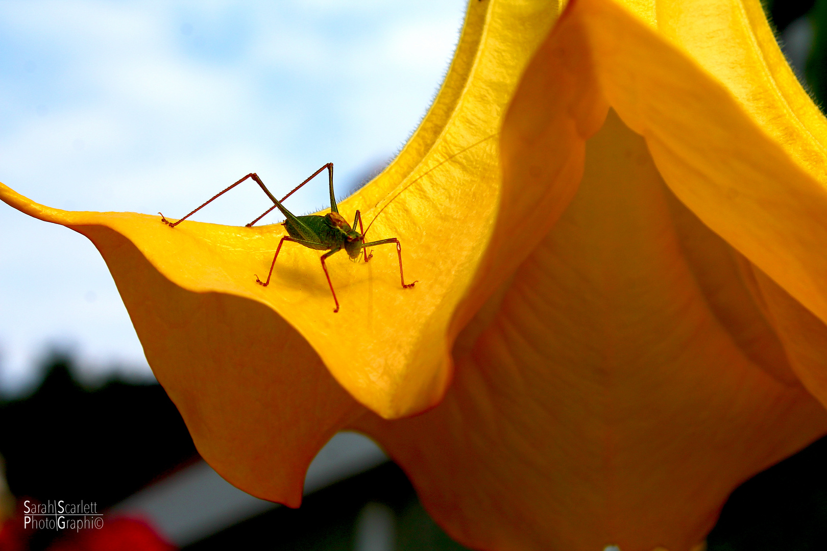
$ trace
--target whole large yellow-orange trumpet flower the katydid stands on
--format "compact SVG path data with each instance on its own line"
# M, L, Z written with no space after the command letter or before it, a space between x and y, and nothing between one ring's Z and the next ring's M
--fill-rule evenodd
M758 0L472 0L428 116L339 206L414 289L392 248L339 254L334 314L317 251L256 285L282 226L0 198L93 241L247 492L298 506L352 428L471 547L683 551L827 432L825 140Z

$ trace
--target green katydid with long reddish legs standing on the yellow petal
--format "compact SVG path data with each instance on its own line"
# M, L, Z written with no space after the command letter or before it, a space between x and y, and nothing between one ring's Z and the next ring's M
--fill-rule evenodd
M294 216L294 214L284 208L284 205L281 203L284 202L284 199L290 197L294 192L298 191L299 188L304 186L305 183L308 183L310 180L315 178L318 173L321 173L324 169L327 169L327 173L329 175L330 180L330 212L328 212L324 216L318 215L308 215L308 216ZM361 253L365 255L365 262L370 260L373 254L367 253L367 247L372 247L374 245L386 245L390 243L396 244L396 254L399 256L399 279L402 282L402 287L408 289L410 287L414 287L414 284L417 283L405 283L404 275L402 273L402 245L399 245L399 240L395 237L391 237L390 239L379 240L379 241L370 241L370 243L365 243L365 234L367 231L362 230L362 221L361 221L361 213L356 211L356 217L353 219L353 227L347 224L347 221L339 214L339 208L336 204L336 197L333 195L333 164L327 163L321 169L318 169L316 172L310 175L309 178L304 180L304 182L299 183L292 191L290 191L287 195L281 198L281 201L276 199L270 190L266 188L263 182L261 182L261 178L258 177L256 173L249 173L244 178L241 178L236 183L233 183L232 186L226 188L222 192L216 194L212 197L209 201L203 203L201 207L196 208L194 211L190 212L184 218L181 218L179 221L170 222L168 221L163 214L160 215L160 219L165 224L169 225L170 227L174 228L178 226L181 222L189 218L189 216L194 215L203 207L206 207L210 202L213 202L218 197L221 197L224 193L230 191L232 188L235 188L241 182L244 182L247 178L251 178L255 181L262 190L267 194L267 197L270 197L270 200L274 203L272 207L267 209L261 216L256 218L256 220L251 221L247 224L247 227L252 226L257 221L260 221L265 215L267 215L270 211L274 208L278 208L281 213L284 215L284 228L287 230L288 235L284 235L279 241L279 246L275 249L275 255L273 256L273 262L270 264L270 272L267 273L267 280L262 282L261 279L256 276L256 283L261 284L264 287L270 284L270 276L273 274L273 268L275 267L275 259L279 258L279 252L281 250L281 245L284 245L284 241L293 241L294 243L298 243L299 245L304 245L309 249L316 249L316 250L327 250L327 253L322 255L322 268L324 270L324 275L327 276L327 285L330 286L330 292L333 295L333 302L336 303L336 309L333 312L339 311L339 301L336 297L336 291L333 290L333 283L330 281L330 274L327 273L327 266L324 264L325 259L327 259L332 254L337 253L338 251L345 249L347 251L347 255L351 258L351 260L356 260L359 258ZM160 212L158 213L160 214ZM359 222L359 231L356 231L356 222ZM368 230L370 230L370 226L368 226Z

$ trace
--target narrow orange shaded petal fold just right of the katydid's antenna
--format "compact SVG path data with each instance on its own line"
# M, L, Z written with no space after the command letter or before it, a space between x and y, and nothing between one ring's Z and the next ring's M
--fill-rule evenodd
M580 184L586 140L608 110L581 36L544 40L504 119L500 208L456 327L466 325L557 222Z

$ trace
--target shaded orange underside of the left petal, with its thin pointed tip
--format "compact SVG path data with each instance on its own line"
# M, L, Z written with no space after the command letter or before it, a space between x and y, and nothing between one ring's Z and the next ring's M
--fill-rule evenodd
M61 221L103 255L146 359L198 453L245 492L299 506L304 473L318 449L364 411L307 341L259 302L175 285L108 227L135 218L162 226L153 217L58 211L13 193L0 184L4 200L31 216ZM157 235L178 234L160 227Z

